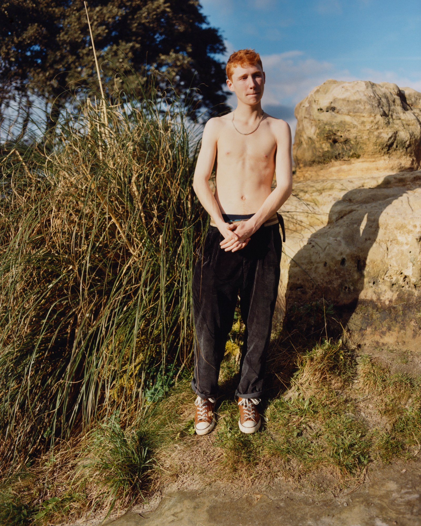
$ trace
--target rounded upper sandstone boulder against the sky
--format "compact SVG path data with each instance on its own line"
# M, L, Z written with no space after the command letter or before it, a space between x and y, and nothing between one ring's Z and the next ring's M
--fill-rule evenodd
M295 108L297 178L393 173L421 163L421 93L396 84L326 80ZM326 171L327 170L327 171Z

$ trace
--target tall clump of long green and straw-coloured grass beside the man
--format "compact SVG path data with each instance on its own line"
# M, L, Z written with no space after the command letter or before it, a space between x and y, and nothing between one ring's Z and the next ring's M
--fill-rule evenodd
M2 473L98 418L133 422L191 350L186 109L153 86L103 103L75 99L45 147L1 147Z

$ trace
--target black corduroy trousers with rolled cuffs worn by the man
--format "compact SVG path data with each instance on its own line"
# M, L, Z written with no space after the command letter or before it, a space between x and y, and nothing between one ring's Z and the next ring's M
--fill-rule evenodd
M280 275L279 225L260 227L247 246L236 252L221 249L222 240L219 230L209 226L204 245L197 250L192 388L201 398L217 395L219 367L239 295L246 328L236 396L260 398Z

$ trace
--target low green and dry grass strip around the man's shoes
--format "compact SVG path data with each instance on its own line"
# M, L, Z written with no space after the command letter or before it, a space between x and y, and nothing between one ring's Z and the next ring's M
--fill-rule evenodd
M179 478L247 486L283 476L324 487L320 480L328 473L330 485L346 487L349 480L363 480L374 462L416 457L421 379L391 374L373 358L356 356L342 341L324 341L297 353L289 387L263 401L262 429L241 433L237 403L229 395L238 380L237 352L230 344L238 345L241 334L236 321L211 434L194 434L194 395L186 373L149 403L147 418L124 427L119 414L112 414L98 421L67 457L46 458L41 473L10 479L0 489L0 517L41 525L76 519L86 510L111 512ZM287 343L284 339L283 347L279 341L282 355ZM269 369L267 383L273 374Z

